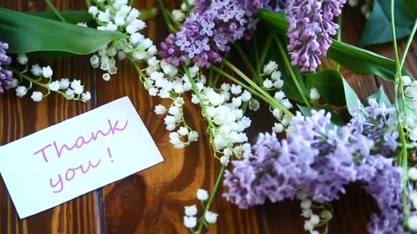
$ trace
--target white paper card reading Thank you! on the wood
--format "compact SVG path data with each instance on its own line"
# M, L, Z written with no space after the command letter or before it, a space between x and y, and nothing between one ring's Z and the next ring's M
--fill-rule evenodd
M20 218L163 161L126 96L0 147L0 172Z

